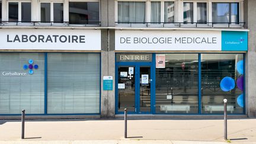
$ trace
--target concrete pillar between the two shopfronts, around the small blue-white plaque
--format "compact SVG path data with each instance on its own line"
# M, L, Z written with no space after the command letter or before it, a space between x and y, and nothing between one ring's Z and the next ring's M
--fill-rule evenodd
M101 0L101 27L114 27L114 0ZM115 116L114 30L101 30L101 117ZM103 90L103 76L113 76L113 91Z

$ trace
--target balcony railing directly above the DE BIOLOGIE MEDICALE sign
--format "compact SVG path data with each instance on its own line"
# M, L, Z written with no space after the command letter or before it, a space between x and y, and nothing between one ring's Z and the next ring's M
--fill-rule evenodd
M238 27L238 28L244 28L245 23L223 23L223 22L212 22L212 23L169 23L169 22L123 22L123 21L117 21L115 22L118 26L129 26L133 27L135 25L145 25L145 27Z

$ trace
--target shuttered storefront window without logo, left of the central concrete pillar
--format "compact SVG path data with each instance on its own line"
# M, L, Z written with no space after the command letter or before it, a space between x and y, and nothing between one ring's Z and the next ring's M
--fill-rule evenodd
M49 53L47 113L100 113L100 54Z

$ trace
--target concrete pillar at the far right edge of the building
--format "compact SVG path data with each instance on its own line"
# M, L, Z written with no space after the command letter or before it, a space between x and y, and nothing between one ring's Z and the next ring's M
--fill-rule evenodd
M256 117L256 1L245 1L245 23L249 28L248 53L246 55L246 102L248 117Z

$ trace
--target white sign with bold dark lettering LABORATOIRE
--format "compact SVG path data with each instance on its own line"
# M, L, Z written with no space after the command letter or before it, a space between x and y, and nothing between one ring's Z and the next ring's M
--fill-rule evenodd
M1 29L0 43L0 49L101 50L101 31Z

